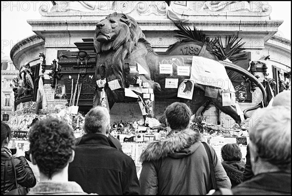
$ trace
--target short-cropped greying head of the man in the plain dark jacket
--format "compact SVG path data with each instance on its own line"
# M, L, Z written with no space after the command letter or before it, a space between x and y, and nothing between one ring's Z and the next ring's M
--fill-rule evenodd
M110 132L110 114L106 107L92 108L85 116L83 130L88 133L101 133L108 136Z

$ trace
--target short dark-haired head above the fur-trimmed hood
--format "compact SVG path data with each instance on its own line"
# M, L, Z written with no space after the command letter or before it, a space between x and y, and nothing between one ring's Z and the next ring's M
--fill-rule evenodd
M192 112L190 108L180 102L175 102L169 105L165 112L166 126L171 130L183 130L190 124Z

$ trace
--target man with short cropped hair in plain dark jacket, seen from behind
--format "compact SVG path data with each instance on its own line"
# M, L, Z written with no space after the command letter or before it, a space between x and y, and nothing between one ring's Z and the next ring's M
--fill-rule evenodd
M69 164L69 180L87 193L140 195L134 161L110 145L110 114L105 107L91 109L84 122L85 135Z

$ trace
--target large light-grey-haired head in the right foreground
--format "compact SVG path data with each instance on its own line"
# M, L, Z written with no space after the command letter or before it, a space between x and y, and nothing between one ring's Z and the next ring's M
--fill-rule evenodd
M252 119L256 124L249 130L249 149L254 173L261 169L256 163L291 172L291 107L260 108Z

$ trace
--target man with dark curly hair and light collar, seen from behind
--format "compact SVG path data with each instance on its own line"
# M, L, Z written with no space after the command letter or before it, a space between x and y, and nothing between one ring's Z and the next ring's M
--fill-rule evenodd
M74 140L71 127L53 117L31 127L30 160L39 169L40 181L28 195L87 195L76 182L68 181Z

